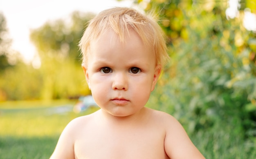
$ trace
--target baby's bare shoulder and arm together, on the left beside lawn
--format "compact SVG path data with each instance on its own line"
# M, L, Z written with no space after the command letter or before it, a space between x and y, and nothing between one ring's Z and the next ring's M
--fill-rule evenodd
M81 133L81 127L90 122L93 115L81 116L70 121L58 139L56 148L50 159L74 159L74 141Z

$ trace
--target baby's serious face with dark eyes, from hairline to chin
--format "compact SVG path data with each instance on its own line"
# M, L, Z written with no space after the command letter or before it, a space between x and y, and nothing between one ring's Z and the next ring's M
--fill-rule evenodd
M152 49L133 31L125 43L113 31L103 33L90 46L85 70L95 102L122 117L145 106L160 73Z

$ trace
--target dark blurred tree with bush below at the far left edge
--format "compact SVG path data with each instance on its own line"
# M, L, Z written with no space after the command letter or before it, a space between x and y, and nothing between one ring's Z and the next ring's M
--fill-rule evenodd
M38 99L40 80L36 79L34 69L22 62L20 54L13 51L10 44L6 20L0 13L0 101Z

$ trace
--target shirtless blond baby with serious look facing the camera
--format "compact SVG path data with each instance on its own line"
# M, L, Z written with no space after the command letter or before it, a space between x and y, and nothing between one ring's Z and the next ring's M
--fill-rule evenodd
M101 109L72 120L51 159L204 159L174 117L144 107L168 59L153 18L107 9L90 20L79 46Z

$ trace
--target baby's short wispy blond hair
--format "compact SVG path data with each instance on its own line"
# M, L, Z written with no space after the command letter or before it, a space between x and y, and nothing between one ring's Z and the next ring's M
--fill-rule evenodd
M83 54L83 64L87 65L90 44L108 29L117 33L121 42L125 42L125 36L127 33L129 34L129 29L135 31L146 46L153 48L155 62L162 67L169 58L164 33L153 16L147 16L128 7L115 7L101 11L89 21L79 42L79 48Z

